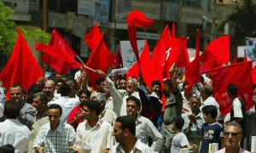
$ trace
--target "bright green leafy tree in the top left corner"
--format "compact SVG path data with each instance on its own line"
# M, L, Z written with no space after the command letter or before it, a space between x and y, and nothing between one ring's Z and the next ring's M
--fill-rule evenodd
M17 26L9 17L14 14L14 10L0 2L0 52L6 55L12 53L17 38L16 28L19 27L26 40L35 42L49 42L50 34L41 29L26 31L22 26Z

